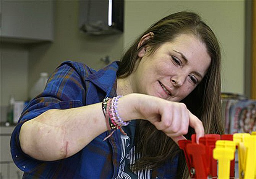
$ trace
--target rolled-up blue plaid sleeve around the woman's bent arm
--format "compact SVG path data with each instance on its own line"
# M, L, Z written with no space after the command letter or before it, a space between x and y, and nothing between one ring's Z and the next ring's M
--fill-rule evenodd
M42 93L25 106L10 141L15 164L25 172L31 172L43 161L26 155L20 147L19 133L24 122L32 120L49 109L68 109L84 106L86 88L81 74L71 62L64 62L50 76ZM45 161L44 161L45 162Z

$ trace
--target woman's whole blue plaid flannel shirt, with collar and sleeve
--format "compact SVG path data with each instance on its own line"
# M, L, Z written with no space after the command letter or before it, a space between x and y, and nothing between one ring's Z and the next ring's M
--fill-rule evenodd
M32 99L24 108L11 136L11 155L23 178L73 178L110 179L118 173L121 158L120 131L103 142L109 135L106 131L91 141L77 154L52 162L36 160L26 155L19 144L19 131L26 120L39 116L48 109L68 109L99 103L116 96L116 73L118 62L95 71L83 63L63 62L50 76L42 93ZM173 178L177 171L178 159L168 162L151 177Z

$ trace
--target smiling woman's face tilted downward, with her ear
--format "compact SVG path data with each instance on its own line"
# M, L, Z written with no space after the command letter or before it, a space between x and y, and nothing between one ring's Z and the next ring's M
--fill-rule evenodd
M206 46L190 34L178 35L153 54L142 49L131 77L133 92L181 101L202 81L211 63Z

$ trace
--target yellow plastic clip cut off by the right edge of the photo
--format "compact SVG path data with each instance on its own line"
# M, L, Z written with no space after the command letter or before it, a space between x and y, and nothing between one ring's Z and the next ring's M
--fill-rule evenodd
M246 136L244 145L246 148L244 178L256 178L256 135Z

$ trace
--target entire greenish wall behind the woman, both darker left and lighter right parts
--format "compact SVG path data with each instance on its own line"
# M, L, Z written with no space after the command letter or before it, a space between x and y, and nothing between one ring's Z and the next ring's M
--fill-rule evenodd
M244 93L245 0L166 1L125 0L125 32L120 35L88 36L78 30L78 1L55 1L53 43L1 44L1 106L11 94L25 100L43 71L52 71L64 60L87 63L99 69L100 58L120 59L124 48L149 25L170 13L196 11L212 27L222 45L222 91Z

